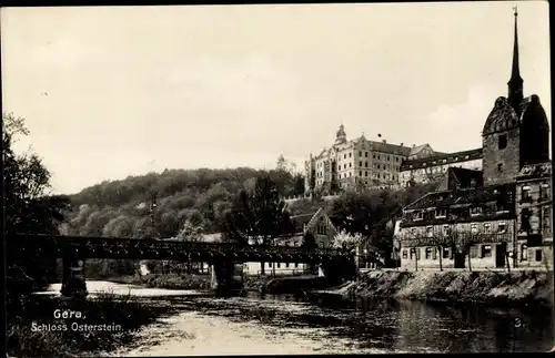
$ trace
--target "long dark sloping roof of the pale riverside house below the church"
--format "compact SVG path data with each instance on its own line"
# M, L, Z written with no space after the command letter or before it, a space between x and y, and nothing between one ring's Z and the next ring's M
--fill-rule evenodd
M471 203L487 203L496 201L500 195L506 196L514 192L515 184L497 184L478 188L462 188L455 191L441 191L424 195L416 202L405 206L405 211L423 209L428 207L447 207Z

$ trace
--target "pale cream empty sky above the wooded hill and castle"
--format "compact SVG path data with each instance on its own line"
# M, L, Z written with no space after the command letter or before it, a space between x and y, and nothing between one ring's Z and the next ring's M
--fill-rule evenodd
M2 8L3 111L64 194L280 154L301 170L340 124L476 149L507 95L515 4L524 94L551 122L547 1Z

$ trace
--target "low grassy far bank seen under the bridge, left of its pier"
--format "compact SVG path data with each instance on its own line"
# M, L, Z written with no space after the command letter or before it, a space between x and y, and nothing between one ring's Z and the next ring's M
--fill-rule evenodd
M109 277L107 280L149 288L210 289L210 275L149 274Z

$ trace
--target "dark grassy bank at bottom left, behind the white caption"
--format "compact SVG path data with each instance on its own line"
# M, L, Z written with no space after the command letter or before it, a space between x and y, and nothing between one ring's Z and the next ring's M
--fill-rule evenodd
M81 317L57 318L57 310L79 311ZM95 356L129 345L134 330L164 314L171 313L129 296L105 294L79 303L28 296L7 309L7 352L10 357Z

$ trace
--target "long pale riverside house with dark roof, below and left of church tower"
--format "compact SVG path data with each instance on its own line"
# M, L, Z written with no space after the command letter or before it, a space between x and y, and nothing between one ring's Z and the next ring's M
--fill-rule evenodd
M430 193L403 209L401 267L505 267L515 247L515 185ZM509 263L513 265L512 263Z

